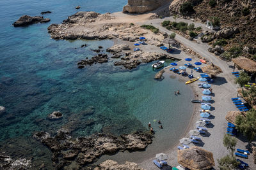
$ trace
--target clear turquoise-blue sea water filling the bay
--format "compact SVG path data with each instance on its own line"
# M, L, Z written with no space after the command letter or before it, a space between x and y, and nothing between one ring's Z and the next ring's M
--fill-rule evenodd
M178 79L153 79L156 71L143 64L132 71L108 63L77 69L76 62L96 55L90 48L106 48L113 41L55 41L47 33L52 23L61 23L80 11L99 13L121 11L125 0L109 1L0 1L0 150L13 157L34 157L49 160L51 154L31 136L36 131L51 134L75 120L73 136L95 132L119 135L144 130L148 122L161 119L164 130L156 128L160 148L171 146L189 122L193 96L191 89ZM44 15L51 22L28 27L13 27L22 15ZM81 48L86 43L88 46ZM152 63L151 63L152 64ZM174 90L182 95L174 96ZM93 110L90 114L88 110ZM56 122L47 120L52 111L60 110L64 117ZM82 115L82 116L81 116ZM89 123L88 123L89 122ZM168 133L168 135L166 135ZM173 138L175 136L175 138ZM44 159L42 159L44 157Z

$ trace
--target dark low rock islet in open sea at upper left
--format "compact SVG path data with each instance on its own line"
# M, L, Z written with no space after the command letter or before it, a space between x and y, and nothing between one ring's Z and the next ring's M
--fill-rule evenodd
M23 15L19 20L13 23L14 27L21 27L26 25L35 24L36 22L49 22L50 18L44 18L40 16L30 17L29 15Z

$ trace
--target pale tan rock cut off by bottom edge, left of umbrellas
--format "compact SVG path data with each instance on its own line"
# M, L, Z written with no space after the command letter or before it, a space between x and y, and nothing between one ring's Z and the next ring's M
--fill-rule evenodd
M126 161L125 164L118 164L117 162L113 160L105 160L101 164L99 164L99 169L102 170L114 170L114 169L127 169L127 170L143 170L141 167L139 167L136 163L134 162L128 162ZM97 168L95 168L96 170Z

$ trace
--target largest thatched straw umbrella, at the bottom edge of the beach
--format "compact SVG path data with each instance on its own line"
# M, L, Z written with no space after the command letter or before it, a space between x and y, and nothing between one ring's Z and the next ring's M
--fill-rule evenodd
M212 153L198 146L178 150L178 162L191 170L204 170L215 166Z

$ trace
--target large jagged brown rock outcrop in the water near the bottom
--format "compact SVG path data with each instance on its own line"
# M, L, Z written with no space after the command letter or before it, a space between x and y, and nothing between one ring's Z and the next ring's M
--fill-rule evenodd
M118 138L110 134L72 138L69 132L59 130L53 137L47 132L37 132L33 137L51 150L52 162L57 169L68 168L70 164L83 167L106 153L144 150L152 143L152 135L147 132L124 134Z

